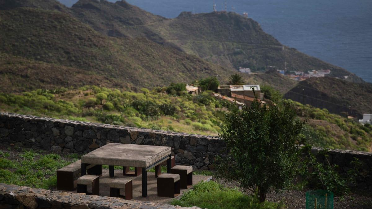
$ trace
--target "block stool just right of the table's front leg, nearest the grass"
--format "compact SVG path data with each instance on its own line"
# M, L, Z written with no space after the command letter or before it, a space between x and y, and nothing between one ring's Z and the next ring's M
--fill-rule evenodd
M176 197L181 193L180 175L163 173L156 178L159 197Z

